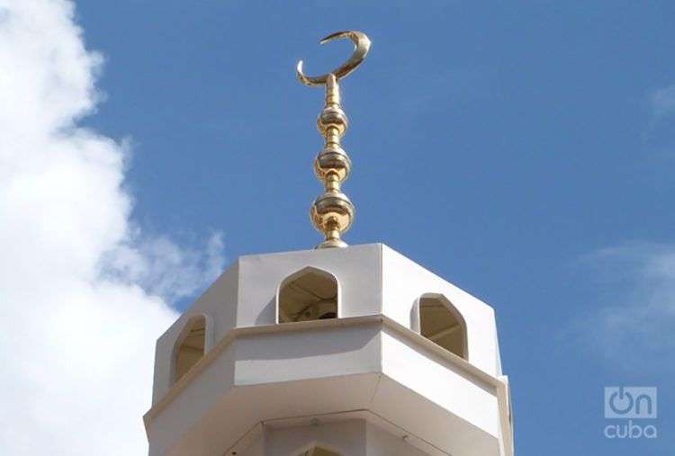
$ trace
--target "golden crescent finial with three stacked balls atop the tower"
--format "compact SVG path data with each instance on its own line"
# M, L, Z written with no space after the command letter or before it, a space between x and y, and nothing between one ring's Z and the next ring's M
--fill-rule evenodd
M349 75L364 61L370 49L370 40L360 31L338 31L332 33L321 44L349 38L356 48L352 56L340 67L322 76L305 76L302 73L302 60L298 62L298 78L306 85L326 86L326 105L317 119L317 126L325 145L314 160L314 172L324 184L323 192L311 205L311 222L324 234L326 240L317 248L346 247L340 237L352 226L356 210L347 195L340 191L340 185L347 180L352 162L341 147L340 139L347 130L347 114L340 106L339 80Z

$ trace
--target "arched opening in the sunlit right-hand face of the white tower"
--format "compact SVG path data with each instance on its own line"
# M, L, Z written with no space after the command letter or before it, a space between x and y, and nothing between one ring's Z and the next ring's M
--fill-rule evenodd
M429 294L419 298L419 334L468 359L464 317L445 297Z

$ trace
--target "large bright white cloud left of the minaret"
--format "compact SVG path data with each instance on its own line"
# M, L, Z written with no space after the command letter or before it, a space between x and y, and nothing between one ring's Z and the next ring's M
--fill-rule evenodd
M147 452L154 343L223 265L148 237L67 0L0 0L0 454ZM180 273L178 273L180 272Z

